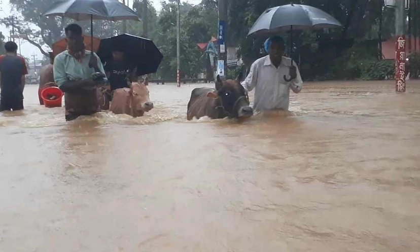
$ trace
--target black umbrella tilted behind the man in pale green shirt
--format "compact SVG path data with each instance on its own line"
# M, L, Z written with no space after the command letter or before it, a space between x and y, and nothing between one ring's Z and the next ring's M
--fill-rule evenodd
M112 60L112 48L116 44L125 49L127 64L137 67L138 76L156 73L163 55L153 41L130 34L103 39L97 51L102 62Z

